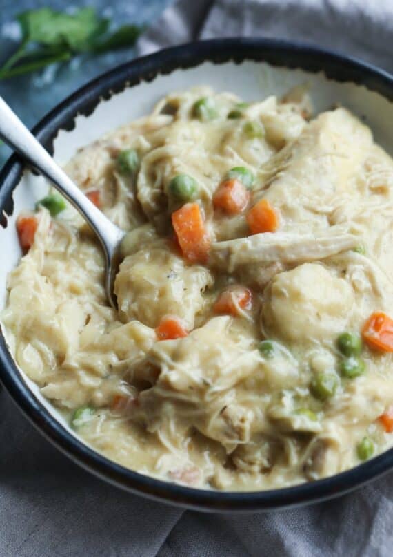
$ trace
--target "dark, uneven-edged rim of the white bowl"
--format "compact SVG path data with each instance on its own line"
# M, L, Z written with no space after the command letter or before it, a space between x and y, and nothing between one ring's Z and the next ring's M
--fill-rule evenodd
M52 152L59 129L70 130L78 114L89 115L101 99L160 74L180 68L192 68L203 62L241 64L245 60L268 62L272 66L301 68L311 73L323 72L337 82L354 82L393 101L393 76L370 64L328 50L304 44L272 39L213 39L161 50L134 59L111 70L61 102L34 127L33 133ZM21 178L23 164L12 155L0 173L0 214L12 214L12 191ZM3 218L3 222L4 222ZM85 469L118 487L143 494L161 502L204 511L263 511L310 504L342 495L389 471L393 467L393 449L343 473L268 491L210 491L171 484L134 472L103 457L66 431L35 397L14 364L6 341L0 334L0 379L30 421L58 449Z

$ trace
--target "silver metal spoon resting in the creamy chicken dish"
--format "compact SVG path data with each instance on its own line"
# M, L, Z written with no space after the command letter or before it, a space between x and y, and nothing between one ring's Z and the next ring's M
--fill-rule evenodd
M105 292L113 308L117 308L113 292L114 276L119 267L119 248L124 232L110 222L103 213L81 192L66 173L57 166L49 153L28 131L0 97L0 138L24 158L79 211L87 220L101 243L105 256Z

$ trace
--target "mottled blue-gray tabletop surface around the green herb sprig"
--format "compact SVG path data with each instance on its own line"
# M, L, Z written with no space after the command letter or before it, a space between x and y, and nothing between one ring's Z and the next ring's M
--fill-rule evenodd
M23 10L51 7L72 10L94 6L97 12L109 17L114 26L124 23L153 23L171 0L1 0L0 5L0 62L12 53L19 37L15 17ZM134 48L96 57L78 57L68 64L50 66L40 73L14 77L0 82L0 95L29 127L77 88L97 75L134 57ZM0 145L0 167L11 151Z

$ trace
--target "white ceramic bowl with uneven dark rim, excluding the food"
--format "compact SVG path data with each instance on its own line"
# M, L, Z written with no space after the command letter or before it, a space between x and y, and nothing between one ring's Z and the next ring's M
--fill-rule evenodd
M63 164L75 151L117 126L147 114L170 91L209 84L244 100L282 95L308 84L316 111L337 102L360 115L392 153L393 77L355 59L283 41L218 39L177 46L123 64L52 110L34 134ZM0 175L0 310L6 276L21 256L15 220L46 193L46 182L17 155ZM284 489L221 492L183 487L126 469L84 444L15 363L0 334L0 380L43 435L88 471L125 490L203 511L266 511L341 495L393 468L393 449L330 478Z

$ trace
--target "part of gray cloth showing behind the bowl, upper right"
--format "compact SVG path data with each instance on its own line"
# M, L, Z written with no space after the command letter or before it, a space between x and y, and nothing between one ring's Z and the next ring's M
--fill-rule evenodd
M325 46L393 72L392 0L180 0L141 37L139 53L240 35Z

